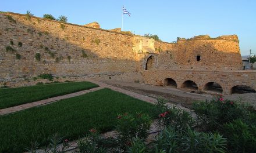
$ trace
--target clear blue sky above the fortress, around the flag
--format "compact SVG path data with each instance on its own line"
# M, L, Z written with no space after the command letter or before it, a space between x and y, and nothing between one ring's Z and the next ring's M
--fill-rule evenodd
M87 24L97 21L101 28L122 26L122 5L131 13L124 16L123 28L135 34L157 34L162 41L177 37L191 38L236 34L242 55L256 54L256 1L251 0L183 0L183 1L1 1L0 10L42 17L49 13L64 15L69 23Z

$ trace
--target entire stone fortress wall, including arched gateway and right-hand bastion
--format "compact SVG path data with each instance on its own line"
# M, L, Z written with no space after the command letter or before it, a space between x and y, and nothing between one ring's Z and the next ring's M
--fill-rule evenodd
M9 47L13 50L6 50ZM40 54L40 60L36 54ZM147 70L152 76L145 76L149 73ZM114 79L145 83L151 83L148 78L154 78L160 82L152 84L162 85L160 74L172 70L177 76L180 70L243 70L239 39L236 35L218 38L204 35L167 43L119 28L103 30L97 23L76 25L40 17L29 20L24 14L0 13L2 82L50 73L65 77L109 75ZM252 73L255 78L255 72Z

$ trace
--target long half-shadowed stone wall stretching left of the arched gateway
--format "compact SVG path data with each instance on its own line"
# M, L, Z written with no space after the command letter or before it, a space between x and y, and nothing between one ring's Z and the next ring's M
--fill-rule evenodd
M139 71L131 35L38 17L27 20L22 14L9 13L14 23L6 15L0 14L0 78ZM6 52L7 46L15 51ZM40 61L35 59L36 53L40 53Z

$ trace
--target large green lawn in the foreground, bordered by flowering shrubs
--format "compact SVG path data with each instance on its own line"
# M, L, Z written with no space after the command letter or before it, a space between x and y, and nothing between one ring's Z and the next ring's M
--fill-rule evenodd
M46 143L56 132L65 139L77 139L91 128L106 132L117 123L117 115L125 112L150 114L154 105L111 89L101 89L0 116L0 152L22 152L30 141Z

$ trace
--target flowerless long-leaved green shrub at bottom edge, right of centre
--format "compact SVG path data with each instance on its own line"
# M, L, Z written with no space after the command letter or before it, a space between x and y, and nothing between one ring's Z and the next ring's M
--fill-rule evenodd
M151 143L153 151L160 152L226 152L226 139L218 133L204 133L188 129L177 132L171 126Z

